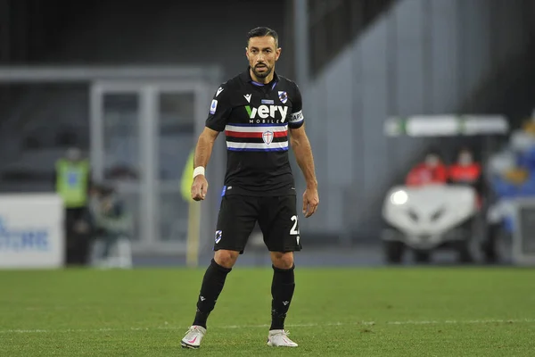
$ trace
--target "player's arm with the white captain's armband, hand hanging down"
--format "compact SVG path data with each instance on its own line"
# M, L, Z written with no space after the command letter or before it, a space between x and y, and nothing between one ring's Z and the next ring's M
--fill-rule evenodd
M292 145L295 160L307 182L307 188L303 194L303 214L310 217L317 210L319 195L317 194L317 179L314 166L314 156L309 137L305 131L302 104L299 89L296 87L296 95L292 98L292 114L288 121L290 132L290 145Z

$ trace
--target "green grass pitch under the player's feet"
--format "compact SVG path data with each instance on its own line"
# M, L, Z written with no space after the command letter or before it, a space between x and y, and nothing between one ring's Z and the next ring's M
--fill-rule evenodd
M286 329L266 345L271 269L236 266L199 350L204 270L0 271L0 356L533 356L535 270L296 269Z

